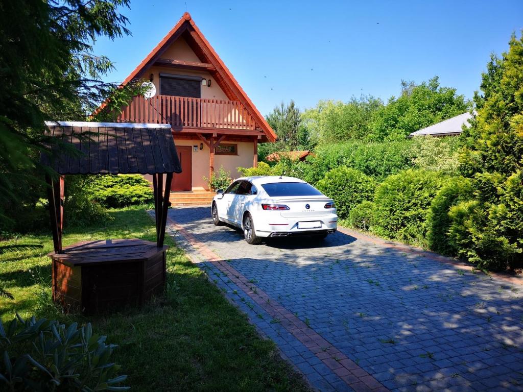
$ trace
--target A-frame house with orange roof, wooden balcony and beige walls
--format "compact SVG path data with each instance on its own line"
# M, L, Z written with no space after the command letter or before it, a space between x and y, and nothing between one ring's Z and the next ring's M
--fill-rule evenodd
M149 80L155 94L135 97L117 122L170 124L183 169L172 191L208 190L204 177L221 166L239 177L237 167L257 166L258 143L276 141L189 13L123 84L137 79Z

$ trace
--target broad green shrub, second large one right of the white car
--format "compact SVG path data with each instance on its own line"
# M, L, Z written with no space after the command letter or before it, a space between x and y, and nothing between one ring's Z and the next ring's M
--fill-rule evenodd
M379 235L426 245L430 202L440 188L434 171L408 169L385 179L374 193L374 230Z

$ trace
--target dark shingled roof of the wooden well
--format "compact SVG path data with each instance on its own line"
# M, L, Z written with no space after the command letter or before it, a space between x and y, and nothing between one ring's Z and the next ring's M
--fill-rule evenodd
M71 144L42 163L58 174L180 173L169 124L47 121L49 135Z

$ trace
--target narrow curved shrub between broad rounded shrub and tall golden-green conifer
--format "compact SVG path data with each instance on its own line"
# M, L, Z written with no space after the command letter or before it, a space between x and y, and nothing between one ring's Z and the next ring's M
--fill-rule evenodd
M442 255L456 255L458 249L449 241L450 207L459 202L471 200L473 197L473 182L464 177L451 178L438 191L427 216L428 246Z

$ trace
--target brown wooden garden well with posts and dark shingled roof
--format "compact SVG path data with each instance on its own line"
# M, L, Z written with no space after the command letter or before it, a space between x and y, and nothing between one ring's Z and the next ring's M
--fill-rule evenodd
M42 162L58 179L47 177L53 232L53 299L96 313L141 305L163 290L164 245L173 172L181 172L170 125L48 122L52 137L68 143ZM143 239L82 241L62 247L64 176L78 174L150 174L153 176L156 243ZM165 175L165 181L164 181Z

